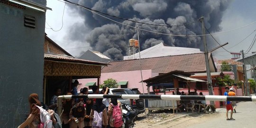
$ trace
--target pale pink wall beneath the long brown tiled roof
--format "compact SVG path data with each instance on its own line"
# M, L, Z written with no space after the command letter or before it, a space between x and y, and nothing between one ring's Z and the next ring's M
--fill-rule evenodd
M142 70L143 80L154 77L158 75L158 73L152 73L151 70ZM117 82L120 81L128 81L128 88L138 88L138 90L143 93L142 84L141 84L141 75L140 71L128 71L128 72L115 72L115 73L101 73L101 81L100 84L103 84L103 81L108 78L115 79ZM87 87L85 84L87 82L97 82L97 79L79 79L79 83L82 83L78 86L77 90L80 91L81 88ZM147 93L146 83L143 83L144 93ZM87 87L88 88L88 87ZM153 91L150 88L150 91Z

